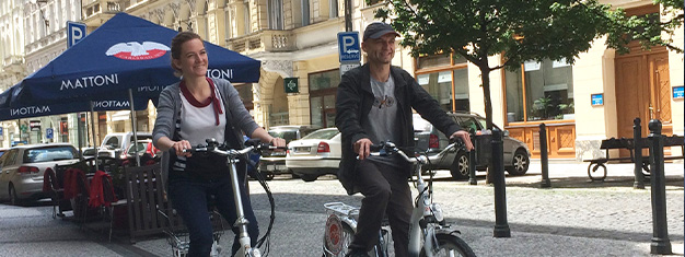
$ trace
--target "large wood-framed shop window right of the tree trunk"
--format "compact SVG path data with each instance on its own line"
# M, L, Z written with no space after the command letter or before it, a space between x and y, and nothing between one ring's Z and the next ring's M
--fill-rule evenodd
M526 61L504 77L508 122L572 119L572 68L565 59Z

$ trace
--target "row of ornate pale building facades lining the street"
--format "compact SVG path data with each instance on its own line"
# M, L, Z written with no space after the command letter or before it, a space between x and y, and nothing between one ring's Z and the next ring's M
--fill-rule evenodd
M26 33L31 32L23 37L28 73L66 48L66 44L57 43L63 38L51 35L59 34L68 19L59 13L73 14L76 10L67 5L79 7L77 1L5 4L22 10L25 17L18 22L27 27ZM191 30L210 43L260 60L259 82L235 86L255 120L264 127L286 124L335 126L335 93L340 80L337 33L345 31L342 0L80 1L79 17L83 19L89 31L117 12L127 12L173 30ZM352 30L361 32L374 21L374 11L381 5L368 4L364 0L351 2ZM624 8L629 14L660 11L660 7L647 0L602 2ZM50 9L50 3L55 8ZM5 22L7 13L9 11L3 9L0 27L3 32L12 30L11 26L8 26L11 23ZM44 23L45 20L50 24L59 23L62 28L40 26L40 15L45 16ZM683 48L682 28L676 30L673 39ZM2 49L7 55L8 50ZM13 52L9 56L24 55L9 52ZM12 57L8 62L8 57L3 57L3 69L7 69L14 59ZM490 63L501 63L501 57L490 57ZM397 48L393 65L413 73L446 112L485 114L479 70L464 59L455 56L415 59L407 49ZM683 100L674 96L678 86L682 91L683 73L682 55L660 47L646 51L637 46L630 54L619 55L607 49L604 39L600 38L593 42L589 51L580 54L572 66L564 60L530 61L521 63L518 71L491 72L494 121L509 130L511 137L527 143L534 157L539 154L538 126L542 122L548 129L550 157L597 157L603 154L599 149L602 139L632 137L632 119L636 117L642 119L643 135L647 135L650 118L661 119L665 133L683 135ZM12 84L5 82L10 81L5 77L11 75L3 72L0 81ZM298 92L286 93L286 81L297 83ZM152 106L146 112L137 112L136 116L138 130L151 130L155 117ZM95 142L108 132L128 131L131 126L127 110L98 113L95 119L96 132L92 139Z

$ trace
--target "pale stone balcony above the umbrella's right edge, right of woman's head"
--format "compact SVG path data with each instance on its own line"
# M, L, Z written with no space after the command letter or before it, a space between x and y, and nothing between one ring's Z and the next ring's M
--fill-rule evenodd
M228 39L225 47L243 55L292 51L295 50L295 35L292 31L259 31Z

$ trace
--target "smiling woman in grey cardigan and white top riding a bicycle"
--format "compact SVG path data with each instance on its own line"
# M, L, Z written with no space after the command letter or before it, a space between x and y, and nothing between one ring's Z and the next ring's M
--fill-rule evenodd
M230 223L236 219L229 167L223 157L184 150L209 138L225 142L231 149L242 149L243 132L276 147L285 147L286 141L269 136L253 120L231 82L207 78L208 57L199 35L178 33L172 39L171 55L171 67L181 81L160 94L153 142L167 153L162 162L167 164L169 197L188 227L188 256L209 256L213 240L207 200L213 197L217 210ZM239 163L239 171L244 180L244 162ZM240 187L245 219L249 222L247 231L254 244L259 229L245 184L241 183ZM236 243L233 253L237 250Z

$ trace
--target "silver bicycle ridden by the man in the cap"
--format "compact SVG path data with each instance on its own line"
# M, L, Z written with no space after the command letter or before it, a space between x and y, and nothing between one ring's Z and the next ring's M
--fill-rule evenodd
M463 147L456 141L445 150ZM372 145L372 155L398 154L414 164L414 174L417 179L414 184L418 191L415 207L411 212L409 229L409 254L411 256L476 256L473 249L464 242L458 230L446 224L442 209L432 202L432 176L427 183L421 174L421 166L428 163L426 154L409 157L392 142ZM345 256L352 236L357 231L359 208L342 202L325 203L328 219L324 233L324 257ZM390 226L384 221L379 231L379 243L369 252L370 256L387 257L388 243L392 241Z

